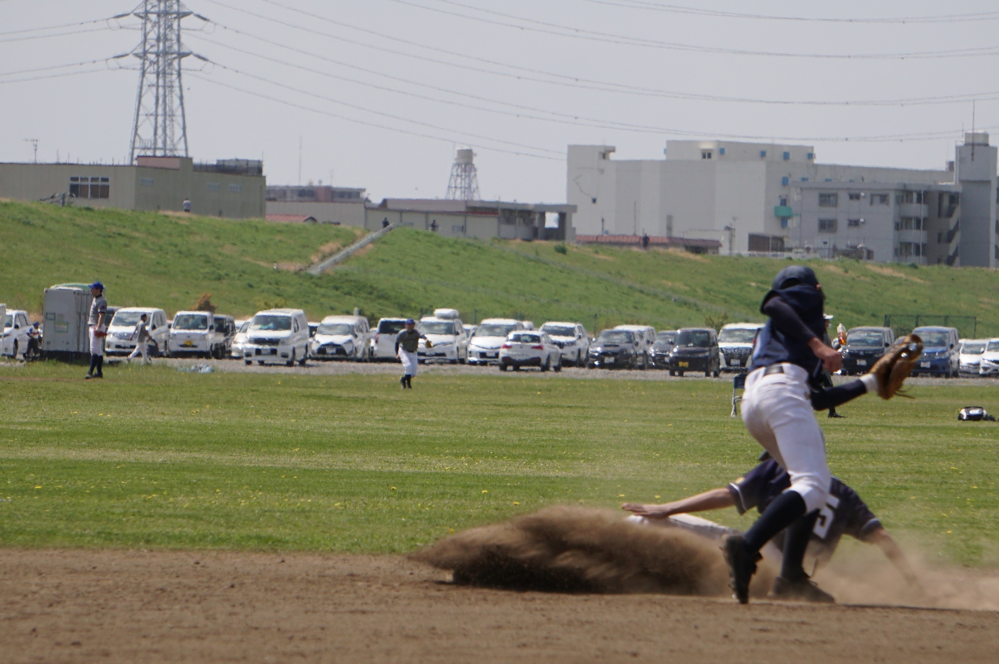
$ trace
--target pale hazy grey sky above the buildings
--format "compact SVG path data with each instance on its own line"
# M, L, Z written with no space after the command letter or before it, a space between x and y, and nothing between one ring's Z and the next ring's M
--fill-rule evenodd
M135 47L138 19L23 31L106 19L136 2L0 0L0 161L31 161L25 139L38 139L39 161L55 160L57 151L73 161L127 156L138 73L110 71L103 59ZM184 20L186 46L214 63L185 60L190 70L203 68L185 74L191 156L263 155L269 183L296 184L301 137L303 184L332 176L336 185L367 188L375 201L443 197L454 148L470 145L483 198L560 202L568 144L607 143L619 159L661 159L671 138L798 139L815 146L820 162L928 169L953 159L962 127L970 131L971 97L980 98L976 126L999 130L994 1L186 5L213 21ZM725 15L731 12L783 19ZM985 15L869 21L974 13ZM802 18L867 22L787 20ZM964 49L977 55L953 53ZM927 52L950 53L801 57ZM132 58L113 62L134 66ZM62 74L72 75L38 78ZM888 106L731 101L928 97L943 99ZM856 140L898 135L908 138ZM830 140L837 138L851 140Z

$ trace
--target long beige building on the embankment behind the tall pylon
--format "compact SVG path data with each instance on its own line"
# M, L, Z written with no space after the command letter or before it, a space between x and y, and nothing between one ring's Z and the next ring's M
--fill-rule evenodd
M135 166L0 164L0 197L21 201L181 211L230 219L263 218L267 179L263 163L186 157L139 157Z

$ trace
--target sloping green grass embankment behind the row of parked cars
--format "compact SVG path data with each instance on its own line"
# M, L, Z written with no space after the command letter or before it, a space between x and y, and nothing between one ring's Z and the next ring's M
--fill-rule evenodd
M168 314L212 294L220 312L250 316L273 305L311 320L360 308L372 320L438 307L467 322L512 316L587 329L641 323L656 329L718 320L759 321L759 301L786 261L684 253L476 242L400 229L333 272L296 268L356 237L351 229L0 202L0 302L41 309L42 290L100 279L115 306ZM279 264L279 270L274 269ZM827 311L848 328L881 325L885 314L978 318L999 334L999 272L813 261Z

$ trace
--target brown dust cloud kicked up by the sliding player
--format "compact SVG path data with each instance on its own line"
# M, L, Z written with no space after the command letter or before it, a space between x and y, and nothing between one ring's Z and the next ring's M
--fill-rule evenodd
M456 533L413 555L459 584L516 590L726 596L716 542L681 528L649 528L610 510L556 506ZM761 567L753 594L773 571Z

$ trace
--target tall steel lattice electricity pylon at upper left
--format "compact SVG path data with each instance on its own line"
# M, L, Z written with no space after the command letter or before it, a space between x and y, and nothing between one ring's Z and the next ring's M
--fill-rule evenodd
M133 164L140 154L188 156L181 62L193 54L181 43L181 20L193 13L180 0L143 0L132 12L142 19L142 41L132 51L140 72L129 151Z

